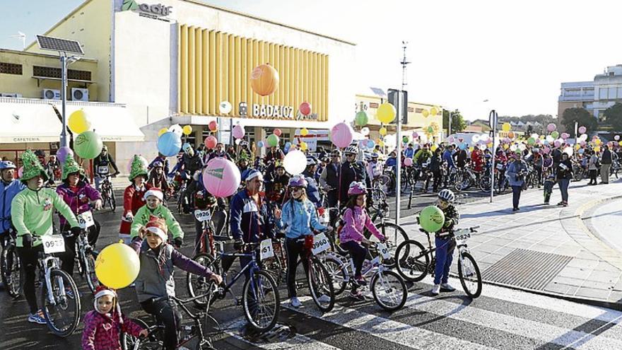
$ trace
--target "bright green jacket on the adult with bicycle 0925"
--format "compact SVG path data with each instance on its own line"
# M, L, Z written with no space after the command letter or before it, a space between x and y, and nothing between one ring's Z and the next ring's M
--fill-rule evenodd
M22 236L33 235L33 246L41 244L35 236L52 235L54 209L66 218L71 227L78 227L76 216L54 189L38 191L26 187L11 202L11 221L17 230L17 246L23 247Z

